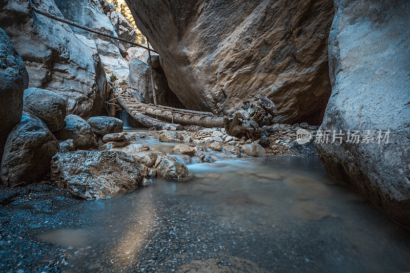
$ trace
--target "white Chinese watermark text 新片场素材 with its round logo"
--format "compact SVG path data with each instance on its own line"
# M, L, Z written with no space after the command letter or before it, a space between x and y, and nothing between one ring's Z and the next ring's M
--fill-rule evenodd
M343 132L342 130L318 130L316 131L315 143L388 143L390 130L348 130ZM308 130L299 129L296 131L296 142L298 144L305 144L313 138L312 134Z

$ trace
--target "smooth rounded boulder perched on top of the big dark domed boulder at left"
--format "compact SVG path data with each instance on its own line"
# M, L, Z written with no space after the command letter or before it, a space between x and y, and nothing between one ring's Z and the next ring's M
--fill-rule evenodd
M23 110L43 120L51 132L63 129L66 107L64 97L53 91L34 87L24 90Z

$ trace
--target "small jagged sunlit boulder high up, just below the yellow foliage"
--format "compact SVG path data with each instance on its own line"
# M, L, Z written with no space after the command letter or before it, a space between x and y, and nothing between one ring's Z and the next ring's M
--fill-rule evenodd
M106 13L107 17L110 19L111 24L114 27L115 32L118 37L125 39L127 41L134 41L137 37L137 32L134 27L127 21L127 19L116 10L109 11ZM118 48L122 55L127 54L127 50L132 47L131 44L125 43L124 41L119 41Z

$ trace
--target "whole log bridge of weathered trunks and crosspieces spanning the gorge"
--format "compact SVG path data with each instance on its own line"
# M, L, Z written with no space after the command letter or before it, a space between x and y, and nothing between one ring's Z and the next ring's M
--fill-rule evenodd
M208 128L224 126L223 117L215 116L211 112L147 104L128 94L117 92L114 92L114 96L122 109L148 128L155 128L156 130L181 130L182 126L180 124L198 125Z

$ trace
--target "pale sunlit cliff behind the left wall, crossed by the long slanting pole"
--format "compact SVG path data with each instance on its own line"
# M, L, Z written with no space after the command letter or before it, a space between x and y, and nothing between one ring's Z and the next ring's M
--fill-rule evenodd
M110 19L104 14L99 1L83 0L54 0L57 7L66 19L72 20L82 26L117 36ZM118 49L118 40L94 34L86 30L71 27L77 34L83 35L94 41L104 69L109 74L114 74L120 80L128 75L127 62L122 58Z

